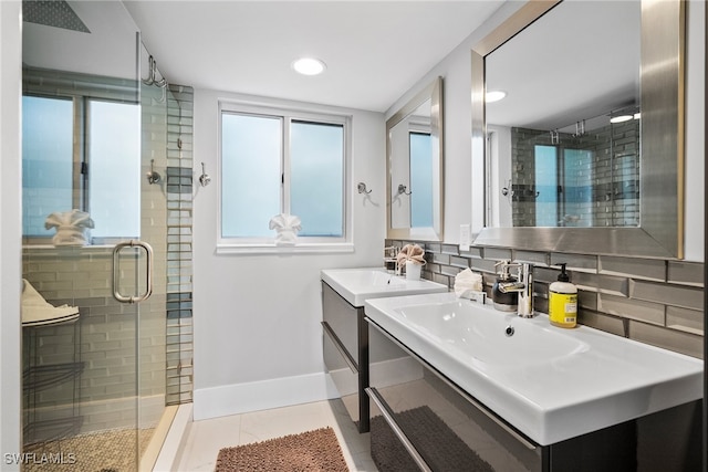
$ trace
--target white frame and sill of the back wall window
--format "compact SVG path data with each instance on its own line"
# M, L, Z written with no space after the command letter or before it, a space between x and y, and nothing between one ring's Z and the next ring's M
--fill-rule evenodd
M352 167L352 116L345 114L334 114L331 112L322 112L319 109L303 109L289 106L272 106L251 104L244 102L219 101L218 107L218 207L217 207L217 254L269 254L269 253L341 253L354 252L352 242L352 198L350 175ZM222 221L222 186L226 183L222 179L222 116L225 113L235 113L241 115L268 116L281 119L282 126L282 149L281 149L281 172L283 174L283 183L281 186L281 211L289 212L290 209L290 124L294 122L310 122L342 125L344 130L344 162L342 175L342 237L298 237L296 243L289 247L279 247L275 244L275 232L269 238L223 238L221 231Z

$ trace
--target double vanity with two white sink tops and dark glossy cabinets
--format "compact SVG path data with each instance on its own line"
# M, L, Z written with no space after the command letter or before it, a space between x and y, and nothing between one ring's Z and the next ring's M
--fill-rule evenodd
M321 279L325 365L382 471L700 464L699 359L384 269Z

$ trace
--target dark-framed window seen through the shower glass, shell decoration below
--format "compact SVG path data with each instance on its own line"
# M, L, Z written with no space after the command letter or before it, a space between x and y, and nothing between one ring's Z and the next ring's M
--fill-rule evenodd
M22 98L22 231L51 238L55 211L91 214L93 239L139 235L139 106L83 96Z

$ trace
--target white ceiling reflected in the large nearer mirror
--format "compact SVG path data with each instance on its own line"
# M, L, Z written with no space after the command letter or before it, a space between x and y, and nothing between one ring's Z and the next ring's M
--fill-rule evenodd
M642 3L565 0L486 59L487 122L558 129L638 103ZM600 27L602 25L602 27ZM587 128L586 130L589 130Z

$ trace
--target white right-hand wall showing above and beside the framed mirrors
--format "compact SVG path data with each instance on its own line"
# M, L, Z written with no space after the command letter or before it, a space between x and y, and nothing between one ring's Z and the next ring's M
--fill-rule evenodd
M436 76L444 78L445 105L445 241L459 242L460 224L482 221L482 171L471 161L471 48L523 2L506 2L482 27L472 32L438 65L386 112L391 117ZM690 0L687 10L686 71L686 260L704 261L704 158L705 158L705 3Z

